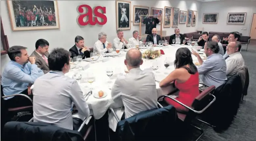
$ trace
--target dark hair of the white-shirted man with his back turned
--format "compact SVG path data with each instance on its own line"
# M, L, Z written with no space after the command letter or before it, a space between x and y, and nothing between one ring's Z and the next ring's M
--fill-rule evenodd
M66 49L56 48L48 56L49 69L53 71L62 71L65 63L69 65L70 53Z

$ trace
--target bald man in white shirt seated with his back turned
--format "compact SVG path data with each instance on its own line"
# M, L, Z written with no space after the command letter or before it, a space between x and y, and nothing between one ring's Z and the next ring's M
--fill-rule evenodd
M115 102L123 102L125 112L121 119L127 119L139 112L157 108L156 82L152 70L141 70L142 53L130 49L126 54L125 65L129 73L119 76L111 91Z

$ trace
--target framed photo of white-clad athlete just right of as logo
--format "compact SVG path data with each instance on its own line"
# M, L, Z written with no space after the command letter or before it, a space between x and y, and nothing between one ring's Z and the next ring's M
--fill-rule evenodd
M131 2L116 1L117 29L131 30Z

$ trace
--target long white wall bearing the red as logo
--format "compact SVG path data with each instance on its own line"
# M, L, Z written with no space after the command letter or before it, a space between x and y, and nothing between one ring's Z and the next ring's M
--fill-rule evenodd
M103 26L85 26L80 27L77 24L77 7L81 4L87 4L91 7L106 6L106 16L108 21ZM200 2L197 1L131 1L131 19L133 19L133 5L148 6L163 8L170 6L179 8L180 10L196 10L200 13ZM1 17L4 27L4 33L8 37L9 46L22 45L28 47L29 54L35 49L35 41L37 39L46 39L50 43L50 50L56 47L63 47L69 49L74 45L75 36L80 35L85 39L85 45L93 47L94 42L98 40L98 33L107 33L108 41L112 41L116 37L116 18L115 18L115 1L58 1L58 12L60 19L60 29L58 30L40 30L40 31L12 31L10 25L10 17L8 14L8 7L6 1L1 1ZM197 21L198 23L198 21ZM186 27L185 24L180 24L181 33L194 32L197 29L194 27ZM145 28L145 26L144 26ZM160 26L157 26L160 30ZM124 31L126 39L132 37L134 30L139 31L139 25L133 26L131 23L131 30ZM167 35L174 34L174 28L163 28L167 31ZM9 61L8 55L1 56L1 73L4 66Z

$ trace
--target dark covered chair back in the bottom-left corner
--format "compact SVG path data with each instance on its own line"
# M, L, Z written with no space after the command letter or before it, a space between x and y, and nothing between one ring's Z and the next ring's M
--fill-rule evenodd
M48 123L11 121L4 125L5 141L83 141L78 131Z

